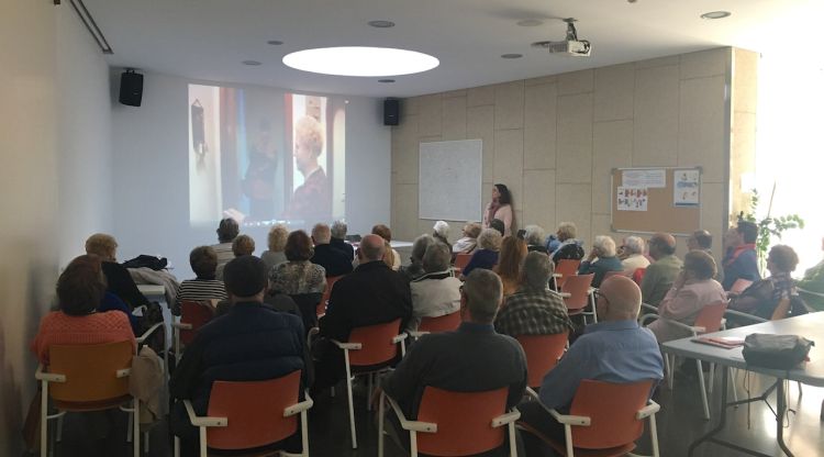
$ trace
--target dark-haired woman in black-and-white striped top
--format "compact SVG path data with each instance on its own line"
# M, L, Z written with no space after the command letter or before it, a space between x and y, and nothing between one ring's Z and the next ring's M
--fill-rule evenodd
M215 277L218 255L211 246L198 246L189 253L189 265L194 271L194 279L180 282L177 300L171 305L171 314L180 315L180 303L183 301L226 300L223 281Z

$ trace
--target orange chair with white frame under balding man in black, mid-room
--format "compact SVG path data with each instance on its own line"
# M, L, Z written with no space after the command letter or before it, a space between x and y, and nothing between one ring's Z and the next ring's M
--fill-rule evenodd
M342 343L332 339L337 347L344 350L344 363L346 364L346 393L349 401L349 431L352 432L352 448L357 449L357 435L355 432L355 405L352 401L352 371L353 368L370 367L369 371L360 371L357 375L366 375L368 378L368 393L366 395L367 410L371 408L371 387L374 375L389 369L389 364L398 357L398 345L401 355L407 354L403 341L407 334L400 332L401 320L396 319L385 324L355 327L349 333L349 341ZM374 367L380 367L374 369Z

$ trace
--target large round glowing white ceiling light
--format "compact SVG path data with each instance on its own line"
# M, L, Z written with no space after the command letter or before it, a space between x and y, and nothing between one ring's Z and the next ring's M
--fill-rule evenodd
M298 70L334 76L397 76L431 70L441 62L415 51L339 46L287 54L283 64Z

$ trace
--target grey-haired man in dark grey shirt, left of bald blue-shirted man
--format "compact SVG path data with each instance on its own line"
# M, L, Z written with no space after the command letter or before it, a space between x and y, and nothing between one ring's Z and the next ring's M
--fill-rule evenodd
M517 404L526 387L526 357L515 339L497 334L492 327L500 303L498 276L488 270L474 271L460 297L460 327L419 339L396 370L383 378L382 389L408 419L417 417L419 402L430 386L457 392L505 387L506 408ZM394 414L388 417L401 445L409 448L409 433L400 428ZM509 444L502 447L508 449Z

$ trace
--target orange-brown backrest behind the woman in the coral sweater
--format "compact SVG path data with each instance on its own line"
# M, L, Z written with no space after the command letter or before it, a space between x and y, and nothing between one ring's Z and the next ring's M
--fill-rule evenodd
M57 401L104 402L129 395L129 378L116 371L132 366L132 342L53 345L48 371L66 375L66 382L49 383Z

